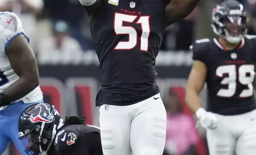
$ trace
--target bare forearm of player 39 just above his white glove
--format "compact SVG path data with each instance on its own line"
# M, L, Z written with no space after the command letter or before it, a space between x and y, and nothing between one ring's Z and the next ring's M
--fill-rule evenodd
M196 113L199 108L202 108L199 94L195 91L186 91L186 103L193 113Z

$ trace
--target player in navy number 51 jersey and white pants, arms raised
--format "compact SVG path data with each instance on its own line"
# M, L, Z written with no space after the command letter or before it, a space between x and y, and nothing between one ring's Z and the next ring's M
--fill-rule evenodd
M100 62L104 155L162 155L166 111L155 59L165 28L200 0L80 0Z

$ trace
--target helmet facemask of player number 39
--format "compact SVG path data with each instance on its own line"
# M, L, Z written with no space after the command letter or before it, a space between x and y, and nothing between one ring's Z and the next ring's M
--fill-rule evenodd
M246 23L246 15L240 10L230 10L229 13L221 9L216 12L216 8L213 10L211 25L213 32L224 37L229 43L239 43L247 34Z

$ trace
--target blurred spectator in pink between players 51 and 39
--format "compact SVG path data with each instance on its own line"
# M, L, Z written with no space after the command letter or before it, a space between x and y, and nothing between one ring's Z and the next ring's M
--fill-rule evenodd
M166 155L195 155L198 136L192 119L182 112L182 104L170 92L165 102L167 110Z

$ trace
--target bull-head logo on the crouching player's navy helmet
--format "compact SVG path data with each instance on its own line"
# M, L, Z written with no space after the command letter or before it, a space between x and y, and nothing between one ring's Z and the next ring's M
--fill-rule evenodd
M47 107L46 104L40 103L35 107L35 109L36 108L40 108L40 110L36 116L33 116L33 114L30 115L30 121L32 123L36 123L36 122L50 123L50 122L52 122L53 115L50 114L50 107Z

